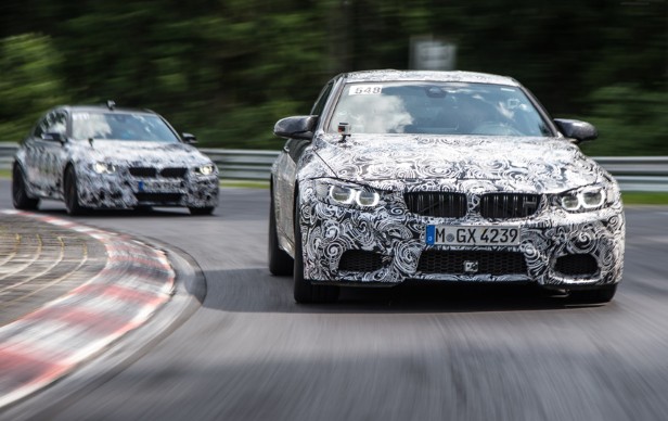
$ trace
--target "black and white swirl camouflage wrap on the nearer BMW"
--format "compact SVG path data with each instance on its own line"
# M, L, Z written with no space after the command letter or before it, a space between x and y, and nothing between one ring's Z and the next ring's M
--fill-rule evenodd
M348 81L448 80L499 84L516 87L506 77L468 73L361 72ZM447 75L444 78L444 75ZM322 126L322 123L321 123ZM313 140L296 163L283 154L272 168L277 226L283 250L294 255L290 226L292 203L299 215L304 278L313 283L393 285L406 280L528 281L543 286L605 285L621 280L625 251L625 216L617 182L569 140L553 137L365 135L347 139L319 126ZM292 178L291 178L292 177ZM380 192L376 206L362 208L334 203L319 192L322 186L354 183ZM298 186L298 187L296 187ZM560 194L599 187L606 193L595 210L568 212ZM294 189L295 197L292 197ZM461 218L436 218L409 212L406 192L461 192L467 212ZM427 245L428 225L493 226L499 221L479 213L480 196L489 192L538 194L538 210L526 218L505 219L518 227L519 245ZM294 201L294 202L293 202ZM293 214L294 215L294 214ZM282 227L282 231L281 231ZM339 270L346 251L383 255L374 271ZM422 253L439 251L519 252L526 275L423 273L418 270ZM555 270L557 258L570 254L593 256L594 275L565 276Z

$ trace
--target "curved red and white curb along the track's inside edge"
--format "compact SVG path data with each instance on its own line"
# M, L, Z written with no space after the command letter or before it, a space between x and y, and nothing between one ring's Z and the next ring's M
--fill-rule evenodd
M0 408L62 378L144 323L169 301L175 271L164 252L126 235L17 210L101 241L104 269L66 295L0 327Z

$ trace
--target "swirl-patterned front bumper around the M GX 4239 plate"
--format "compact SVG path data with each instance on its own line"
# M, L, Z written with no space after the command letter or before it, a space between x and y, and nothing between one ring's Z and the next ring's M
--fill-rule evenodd
M304 194L305 193L305 194ZM444 219L401 206L372 210L301 195L305 278L342 285L394 285L406 280L535 282L548 288L617 283L624 268L620 201L587 213L547 205L531 217L492 222L475 212ZM426 244L428 225L516 226L516 246Z

